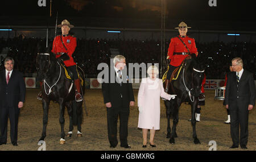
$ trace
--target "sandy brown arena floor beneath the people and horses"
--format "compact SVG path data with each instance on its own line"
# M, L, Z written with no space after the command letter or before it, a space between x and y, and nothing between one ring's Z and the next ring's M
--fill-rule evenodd
M39 89L27 89L26 103L20 111L18 126L18 143L19 146L14 147L10 142L10 123L8 128L7 144L0 146L0 150L32 150L36 151L38 140L42 134L43 128L43 108L42 102L36 99ZM137 107L138 90L134 90L135 106L130 107L129 117L129 136L128 143L133 151L155 151L155 150L201 150L208 151L209 141L215 140L217 150L230 151L232 145L230 137L230 125L223 122L227 119L227 114L222 101L214 101L214 90L206 90L205 103L201 110L201 121L197 122L197 136L201 144L195 145L192 139L192 126L188 119L191 118L191 108L189 105L181 105L179 111L179 124L177 126L177 136L175 144L172 145L166 138L166 108L164 102L161 101L161 118L160 130L156 131L155 144L156 148L142 148L142 130L137 128L138 124L138 107ZM127 150L119 146L110 148L108 142L107 123L106 123L106 107L103 102L101 89L88 89L85 92L85 101L88 110L88 117L84 111L84 123L82 124L82 137L76 136L77 129L75 127L72 138L66 137L64 145L59 144L60 140L60 124L59 124L59 105L51 102L49 109L49 120L47 126L47 136L45 139L46 150ZM171 121L172 124L172 121ZM69 119L67 109L65 110L65 133L68 132ZM256 150L256 111L255 107L249 114L249 142L247 150ZM118 126L119 128L119 126ZM119 131L118 131L119 132ZM148 131L148 140L149 140ZM119 136L118 136L119 138ZM119 140L119 139L118 139ZM242 150L241 148L232 150Z

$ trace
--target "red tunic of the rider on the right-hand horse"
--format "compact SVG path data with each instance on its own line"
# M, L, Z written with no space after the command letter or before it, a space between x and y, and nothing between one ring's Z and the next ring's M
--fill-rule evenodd
M181 38L179 35L179 38L184 41L185 45L187 45L190 53L195 53L196 56L198 54L195 39L189 38L188 36L185 36L185 38ZM179 67L179 65L182 63L182 61L187 57L188 55L174 55L174 52L188 52L188 49L185 47L185 45L180 41L180 39L175 37L171 39L171 43L168 48L167 53L167 59L171 59L170 64L174 67Z

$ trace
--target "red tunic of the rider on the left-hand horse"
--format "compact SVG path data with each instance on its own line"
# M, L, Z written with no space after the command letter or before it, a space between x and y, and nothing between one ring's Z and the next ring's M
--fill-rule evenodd
M55 37L53 40L53 45L52 45L52 52L57 53L57 52L65 52L68 53L69 60L64 61L64 64L67 67L71 67L73 65L76 65L75 61L73 60L72 54L74 53L76 49L76 38L72 35L67 35L67 36L62 36L63 43L65 44L65 47L68 49L66 50L64 45L61 42L61 37L62 35L58 35ZM56 55L56 58L60 57L61 55Z

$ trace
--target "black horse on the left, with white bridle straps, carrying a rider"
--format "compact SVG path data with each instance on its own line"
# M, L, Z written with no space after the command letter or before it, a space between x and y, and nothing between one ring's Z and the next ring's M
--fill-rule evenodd
M49 50L47 50L49 51ZM77 136L81 136L81 124L83 121L82 102L75 101L75 84L72 82L72 74L67 72L55 58L55 54L51 52L42 52L39 50L36 56L36 69L38 71L38 79L43 81L43 132L40 140L46 138L46 126L48 122L49 102L55 101L60 105L59 122L61 126L60 144L65 143L64 133L64 110L65 106L69 114L69 132L72 135L73 126L77 125ZM81 68L77 68L82 86L82 92L85 91L84 73ZM85 107L86 108L86 107Z

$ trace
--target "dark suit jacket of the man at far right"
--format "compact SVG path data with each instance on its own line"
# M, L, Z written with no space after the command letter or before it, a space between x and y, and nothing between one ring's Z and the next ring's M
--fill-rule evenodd
M243 69L238 86L236 72L228 74L224 105L229 105L229 110L233 110L236 106L239 110L248 110L248 105L255 105L253 73Z

